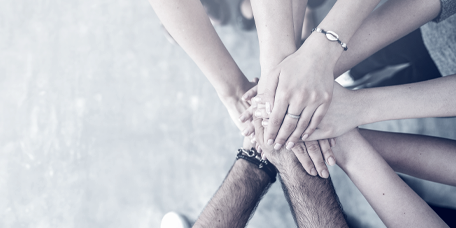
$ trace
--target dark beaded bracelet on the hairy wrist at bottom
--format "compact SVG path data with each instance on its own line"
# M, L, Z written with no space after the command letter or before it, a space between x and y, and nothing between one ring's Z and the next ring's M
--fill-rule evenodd
M255 150L255 148L252 148L250 150L243 148L238 149L236 160L239 158L254 164L259 169L268 174L271 184L276 181L277 171L275 166L269 163L269 161L261 159L260 154Z

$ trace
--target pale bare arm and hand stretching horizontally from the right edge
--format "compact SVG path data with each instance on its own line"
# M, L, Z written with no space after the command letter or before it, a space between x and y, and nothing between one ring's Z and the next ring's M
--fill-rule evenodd
M357 126L393 119L456 116L456 75L349 91L334 86L331 106L309 140L337 137Z

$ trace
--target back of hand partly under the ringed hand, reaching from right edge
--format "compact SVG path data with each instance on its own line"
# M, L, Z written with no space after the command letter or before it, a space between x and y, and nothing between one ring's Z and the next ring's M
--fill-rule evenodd
M359 91L351 91L334 83L334 96L325 117L307 140L335 138L364 124L366 107L363 109Z

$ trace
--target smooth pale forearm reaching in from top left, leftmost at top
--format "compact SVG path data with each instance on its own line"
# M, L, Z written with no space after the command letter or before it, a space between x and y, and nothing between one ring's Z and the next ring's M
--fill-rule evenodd
M199 0L149 0L168 32L195 61L221 98L241 97L249 88Z

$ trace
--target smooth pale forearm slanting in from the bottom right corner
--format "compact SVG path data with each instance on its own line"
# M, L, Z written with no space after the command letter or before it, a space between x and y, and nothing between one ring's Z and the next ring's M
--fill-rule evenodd
M336 139L338 165L387 227L447 227L357 131Z

